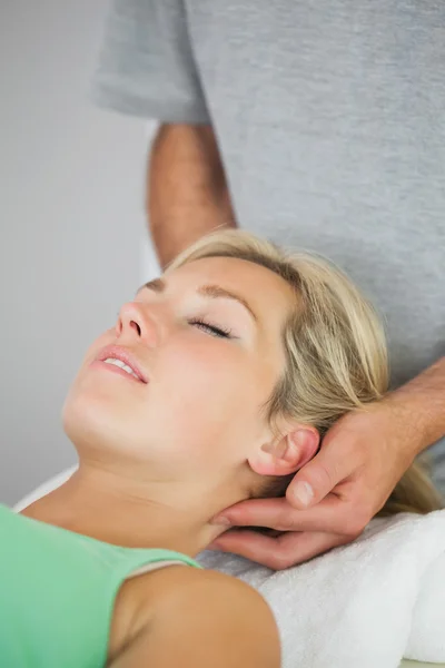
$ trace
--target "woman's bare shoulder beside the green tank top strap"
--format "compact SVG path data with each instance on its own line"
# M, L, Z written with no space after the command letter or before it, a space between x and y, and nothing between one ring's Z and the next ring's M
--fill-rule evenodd
M150 601L149 621L116 666L279 668L274 615L248 584L182 566L144 579L139 593L144 589Z

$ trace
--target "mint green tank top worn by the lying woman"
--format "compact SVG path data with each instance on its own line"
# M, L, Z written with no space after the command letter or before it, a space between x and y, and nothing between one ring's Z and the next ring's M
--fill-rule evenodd
M0 504L0 666L102 668L120 586L160 562L201 568L178 552L111 546Z

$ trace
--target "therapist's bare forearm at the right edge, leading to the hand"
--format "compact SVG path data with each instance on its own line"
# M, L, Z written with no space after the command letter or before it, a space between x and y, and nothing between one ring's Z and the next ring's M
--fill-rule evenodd
M445 435L445 357L387 399L406 414L416 435L416 454L419 454Z

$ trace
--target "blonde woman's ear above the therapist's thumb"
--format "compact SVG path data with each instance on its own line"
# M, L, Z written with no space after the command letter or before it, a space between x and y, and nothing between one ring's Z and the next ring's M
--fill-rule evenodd
M289 475L312 460L319 445L315 426L298 425L273 443L265 443L248 459L260 475Z

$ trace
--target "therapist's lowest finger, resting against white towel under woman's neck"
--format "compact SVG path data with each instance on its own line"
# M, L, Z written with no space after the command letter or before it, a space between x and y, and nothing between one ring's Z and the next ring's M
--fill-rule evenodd
M290 532L270 538L245 530L228 531L215 540L212 547L222 552L240 554L274 570L283 570L347 542L350 542L348 538L336 533Z

